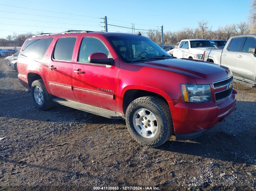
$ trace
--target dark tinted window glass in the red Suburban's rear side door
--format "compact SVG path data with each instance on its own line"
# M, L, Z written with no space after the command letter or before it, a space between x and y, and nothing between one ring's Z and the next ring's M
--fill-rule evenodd
M54 49L53 59L71 61L76 37L59 38Z

